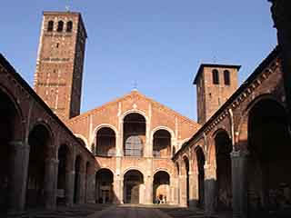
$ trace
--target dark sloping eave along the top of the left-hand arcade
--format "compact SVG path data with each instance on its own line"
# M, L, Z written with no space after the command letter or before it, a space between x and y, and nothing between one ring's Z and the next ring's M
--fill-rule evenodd
M45 102L43 101L43 99L35 93L35 91L33 90L33 88L27 84L27 82L24 80L24 78L22 78L22 76L20 74L18 74L16 71L15 71L15 68L7 61L7 59L5 58L5 56L0 53L0 64L2 64L5 68L6 71L8 71L8 73L10 74L14 74L14 77L15 77L15 80L23 85L23 87L25 88L25 90L31 94L34 98L34 100L41 104L42 107L44 108L45 112L47 114L49 114L50 116L52 116L52 118L55 119L56 123L58 123L59 125L61 125L65 131L68 133L68 134L71 134L71 136L73 138L75 138L75 141L77 144L80 144L77 140L77 137L75 136L75 134L73 134L73 132L60 120L60 118L49 108L49 106L47 104L45 104ZM95 156L86 148L84 147L83 145L80 144L81 147L83 147L85 149L85 152L87 154L90 154L91 157L93 157L95 159Z

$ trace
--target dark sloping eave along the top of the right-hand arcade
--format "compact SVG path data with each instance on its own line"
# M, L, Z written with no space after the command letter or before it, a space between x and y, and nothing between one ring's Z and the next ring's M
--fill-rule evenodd
M209 125L209 124L211 124L212 122L214 122L215 121L215 119L216 119L216 117L219 115L219 114L221 114L224 110L226 110L226 108L230 105L230 104L232 104L235 100L236 100L236 97L238 97L239 96L239 94L241 94L245 89L246 89L246 87L249 85L249 84L251 84L255 79L256 79L256 76L258 75L258 74L261 74L262 73L262 71L266 68L266 66L268 65L268 64L270 64L277 56L278 56L278 54L280 53L280 51L281 51L281 49L280 49L280 47L279 47L279 45L276 45L276 47L274 48L274 50L270 53L270 54L268 54L267 56L266 56L266 58L265 58L265 60L263 61L263 62L261 62L261 64L259 64L257 67L256 67L256 69L255 69L255 71L252 73L252 74L250 74L248 77L247 77L247 79L246 79L246 81L243 83L243 84L241 84L237 89L236 89L236 92L234 93L234 94L232 94L229 98L228 98L228 100L226 101L226 103L225 104L223 104L217 111L216 111L216 113L215 114L213 114L210 118L209 118L209 120L208 121L206 121L206 124L204 124L197 132L196 132L196 134L194 134L185 144L183 144L182 145L182 147L176 152L176 154L174 154L174 156L172 157L172 160L174 161L174 160L176 160L176 157L179 155L179 154L181 154L183 151L184 151L184 149L186 148L186 146L188 145L188 144L190 144L190 143L192 143L194 140L196 140L196 138L200 135L200 134L202 134L204 131L205 131L205 129L206 129L206 127Z

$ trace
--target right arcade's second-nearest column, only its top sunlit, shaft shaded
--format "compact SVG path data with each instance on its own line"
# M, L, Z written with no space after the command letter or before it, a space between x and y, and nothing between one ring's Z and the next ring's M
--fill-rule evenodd
M208 215L216 212L216 167L205 165L205 210Z

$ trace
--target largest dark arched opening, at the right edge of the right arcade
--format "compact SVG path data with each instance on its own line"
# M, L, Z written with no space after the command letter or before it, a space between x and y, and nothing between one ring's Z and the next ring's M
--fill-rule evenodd
M270 210L274 217L291 206L290 134L285 108L263 99L250 110L247 122L247 208L249 217Z

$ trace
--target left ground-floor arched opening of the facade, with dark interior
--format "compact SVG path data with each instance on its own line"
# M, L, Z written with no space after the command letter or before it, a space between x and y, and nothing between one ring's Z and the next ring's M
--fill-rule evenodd
M95 202L113 203L114 201L114 174L108 169L100 169L95 174Z

